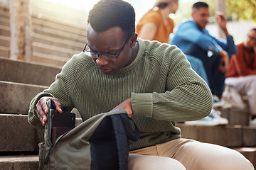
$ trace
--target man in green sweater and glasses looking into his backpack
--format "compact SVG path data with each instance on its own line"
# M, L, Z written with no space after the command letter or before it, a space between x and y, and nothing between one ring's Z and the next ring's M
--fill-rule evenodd
M128 169L253 169L233 149L181 138L176 121L208 115L210 89L176 46L137 38L134 19L125 1L95 4L85 49L32 99L28 122L46 125L49 99L60 113L77 108L82 120L123 108L140 131L129 144Z

